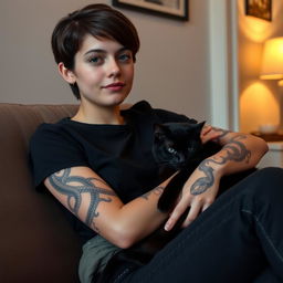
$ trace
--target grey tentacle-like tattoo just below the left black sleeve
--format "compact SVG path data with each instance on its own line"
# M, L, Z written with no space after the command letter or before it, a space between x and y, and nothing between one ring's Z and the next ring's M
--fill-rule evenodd
M87 210L87 216L85 223L87 226L92 226L95 230L93 219L97 218L99 213L96 211L99 202L111 202L112 199L109 197L103 198L104 196L116 196L114 191L101 188L94 184L96 182L104 184L102 179L98 178L84 178L81 176L70 176L71 169L64 169L56 174L53 174L49 177L49 181L54 189L56 189L60 193L67 196L67 207L75 214L78 214L80 207L82 205L82 195L90 193L91 203ZM76 185L75 185L76 184Z

